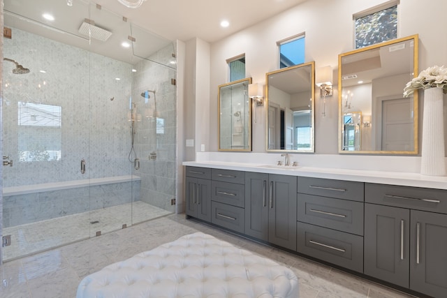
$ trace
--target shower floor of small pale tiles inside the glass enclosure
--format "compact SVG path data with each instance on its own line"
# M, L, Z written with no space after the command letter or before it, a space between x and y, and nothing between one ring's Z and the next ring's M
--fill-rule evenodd
M37 223L3 228L3 235L11 235L11 244L3 248L3 260L13 260L82 239L96 237L130 227L154 218L171 214L145 202L133 202L80 214L52 218Z

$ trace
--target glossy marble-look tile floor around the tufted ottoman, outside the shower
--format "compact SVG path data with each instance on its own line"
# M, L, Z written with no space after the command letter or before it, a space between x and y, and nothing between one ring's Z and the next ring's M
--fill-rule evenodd
M300 298L412 297L203 223L187 221L184 214L163 216L101 237L5 262L0 266L3 281L0 297L75 297L78 284L88 274L198 231L291 268L300 281Z

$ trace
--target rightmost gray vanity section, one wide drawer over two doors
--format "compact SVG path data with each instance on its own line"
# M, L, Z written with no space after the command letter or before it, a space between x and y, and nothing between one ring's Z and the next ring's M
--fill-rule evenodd
M365 184L365 274L447 297L447 191Z

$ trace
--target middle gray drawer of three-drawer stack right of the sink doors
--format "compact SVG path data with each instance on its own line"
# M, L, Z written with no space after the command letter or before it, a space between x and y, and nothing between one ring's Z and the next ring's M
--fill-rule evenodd
M363 203L298 193L298 221L363 235Z

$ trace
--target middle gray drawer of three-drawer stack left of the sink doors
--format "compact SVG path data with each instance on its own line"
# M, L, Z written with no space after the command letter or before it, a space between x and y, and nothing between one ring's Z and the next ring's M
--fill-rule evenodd
M237 207L245 207L245 186L243 184L212 180L211 189L211 200Z

